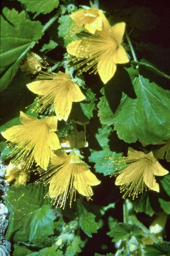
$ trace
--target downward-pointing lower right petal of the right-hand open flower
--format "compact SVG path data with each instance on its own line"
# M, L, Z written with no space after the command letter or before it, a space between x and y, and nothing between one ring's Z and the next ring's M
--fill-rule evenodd
M159 192L159 184L156 182L155 178L153 177L153 173L150 167L145 169L143 180L148 188Z

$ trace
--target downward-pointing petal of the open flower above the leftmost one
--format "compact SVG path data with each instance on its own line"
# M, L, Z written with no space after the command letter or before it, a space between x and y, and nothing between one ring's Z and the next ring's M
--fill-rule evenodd
M54 100L54 110L58 120L67 121L72 107L71 100L60 98Z

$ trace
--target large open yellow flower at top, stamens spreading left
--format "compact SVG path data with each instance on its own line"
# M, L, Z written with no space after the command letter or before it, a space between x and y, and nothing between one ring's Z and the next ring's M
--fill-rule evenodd
M86 65L80 73L91 69L90 73L98 72L106 84L114 76L117 63L127 63L129 59L121 45L125 23L120 22L111 27L103 13L101 17L103 30L71 42L67 45L67 52L75 56L73 63L77 63L76 69Z

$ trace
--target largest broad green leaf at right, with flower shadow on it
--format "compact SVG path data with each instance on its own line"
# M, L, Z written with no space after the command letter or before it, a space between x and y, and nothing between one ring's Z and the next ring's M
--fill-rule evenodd
M135 142L137 139L146 144L157 144L159 140L168 140L170 137L170 119L168 118L170 115L170 91L162 89L154 82L150 83L143 76L138 76L137 70L133 68L129 68L127 71L131 77L136 97L127 95L128 89L132 90L132 88L128 88L130 84L127 82L127 94L122 93L118 106L111 106L110 102L113 101L116 90L114 81L112 87L106 87L106 98L109 102L107 104L111 106L109 113L112 116L109 124L114 124L114 130L117 131L118 137L128 143ZM117 75L120 76L119 73ZM122 76L125 79L127 74L123 72ZM98 107L100 108L98 115L101 123L108 124L108 111L105 115L104 104L100 104Z

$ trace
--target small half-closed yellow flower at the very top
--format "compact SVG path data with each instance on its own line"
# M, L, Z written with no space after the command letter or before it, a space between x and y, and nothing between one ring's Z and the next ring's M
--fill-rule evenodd
M70 15L70 18L75 21L78 28L84 25L90 33L94 34L97 30L102 30L102 11L97 7L89 8L88 10L82 9Z

